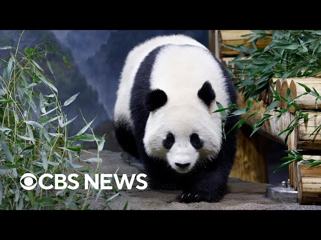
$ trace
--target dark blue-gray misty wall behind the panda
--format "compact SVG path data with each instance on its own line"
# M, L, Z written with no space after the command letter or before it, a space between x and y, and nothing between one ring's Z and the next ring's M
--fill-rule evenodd
M21 32L0 30L0 46L16 46ZM80 117L81 108L87 120L97 116L93 126L98 135L107 133L105 148L118 151L120 148L112 131L113 108L119 74L128 51L150 37L178 33L189 35L208 46L208 30L27 30L22 36L19 50L23 52L26 46L35 47L46 42L67 57L69 68L62 56L48 56L56 76L59 98L64 101L80 92L77 99L65 109L69 119L78 115L69 125L70 133L76 133L85 125ZM0 57L6 59L9 53L9 50L1 50ZM50 72L45 73L51 75ZM270 181L274 183L287 179L285 170L271 173L280 163L282 146L270 142L267 147Z

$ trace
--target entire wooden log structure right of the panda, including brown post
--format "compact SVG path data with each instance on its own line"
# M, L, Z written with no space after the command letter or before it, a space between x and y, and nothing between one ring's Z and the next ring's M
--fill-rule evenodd
M238 46L244 44L251 47L252 43L247 42L250 37L242 36L252 33L250 30L210 30L210 49L215 53L216 57L222 60L222 63L227 66L228 63L240 52L222 46L223 44ZM215 40L213 40L216 38ZM264 48L270 42L270 37L256 41L257 48ZM232 67L234 67L232 65ZM237 70L234 74L237 77ZM252 109L249 113L258 112L250 117L245 123L248 126L242 126L239 131L238 150L236 153L235 163L233 165L230 176L239 177L243 180L254 182L266 182L266 147L262 148L266 138L271 138L281 144L284 143L286 132L277 137L277 134L284 130L292 120L297 116L295 107L289 107L289 112L283 114L280 119L275 122L277 112L270 111L271 118L265 121L260 129L250 138L251 128L253 124L264 117L263 113L269 104L275 99L271 97L272 91L270 86L281 96L286 98L287 89L290 88L290 98L293 99L304 93L306 90L298 83L303 83L311 90L314 89L321 94L321 74L315 77L292 77L279 78L274 77L269 80L269 85L262 92L259 104L252 101ZM321 128L310 134L316 127L321 124L321 100L315 103L315 97L311 94L301 96L296 100L296 104L300 107L301 113L308 113L308 121L304 119L297 120L297 126L288 136L287 147L294 149L303 154L303 159L312 158L321 160ZM241 92L238 94L238 108L247 107L246 101ZM287 102L280 100L276 108L286 108ZM241 117L247 117L248 114L242 114ZM294 121L293 121L294 122ZM293 123L292 122L292 123ZM260 134L258 134L260 133ZM246 142L246 144L244 144ZM258 143L259 142L259 143ZM302 161L300 161L302 162ZM298 191L300 204L321 202L321 165L313 168L308 168L308 165L300 162L293 162L289 165L290 184ZM262 167L264 166L264 167Z

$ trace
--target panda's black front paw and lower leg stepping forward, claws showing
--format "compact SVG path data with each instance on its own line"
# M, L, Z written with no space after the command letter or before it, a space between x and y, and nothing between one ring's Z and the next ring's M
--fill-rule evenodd
M202 169L187 182L181 202L217 202L226 193L229 170Z

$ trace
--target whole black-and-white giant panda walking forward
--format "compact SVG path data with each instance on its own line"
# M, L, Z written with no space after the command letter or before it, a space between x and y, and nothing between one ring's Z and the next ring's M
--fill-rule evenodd
M123 66L114 108L116 138L142 159L153 189L183 189L181 202L219 201L236 152L236 131L222 134L221 112L236 103L227 70L186 35L135 46ZM236 123L228 112L227 132Z

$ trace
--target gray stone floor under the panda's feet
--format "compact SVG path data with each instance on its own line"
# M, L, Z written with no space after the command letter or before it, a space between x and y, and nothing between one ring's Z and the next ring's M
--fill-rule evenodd
M82 156L93 157L90 153L82 153ZM129 162L126 153L103 150L100 152L100 157L102 163L98 172L114 173L118 167L118 173L127 173L127 175L144 172L143 165L135 159ZM93 164L92 167L96 168L96 165ZM265 197L267 186L268 184L265 183L251 183L230 178L228 193L220 202L215 203L180 203L177 197L181 190L153 190L149 187L138 190L134 187L131 190L122 190L121 194L113 198L108 205L112 209L122 209L128 199L127 209L321 209L320 205L299 205L270 200ZM106 209L105 200L102 197L97 201L92 199L90 209Z

